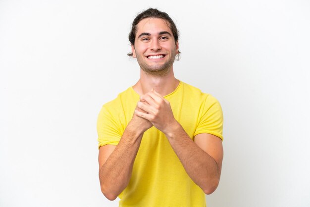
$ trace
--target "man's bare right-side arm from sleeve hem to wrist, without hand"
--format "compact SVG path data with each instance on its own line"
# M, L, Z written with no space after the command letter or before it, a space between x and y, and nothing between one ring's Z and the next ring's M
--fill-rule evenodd
M206 194L213 193L221 174L221 139L203 133L196 135L193 142L179 123L166 136L190 178Z

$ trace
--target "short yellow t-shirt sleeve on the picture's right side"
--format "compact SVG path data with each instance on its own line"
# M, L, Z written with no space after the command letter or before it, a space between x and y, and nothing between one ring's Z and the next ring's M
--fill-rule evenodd
M208 95L202 110L194 136L208 133L223 140L223 112L219 102L214 97Z

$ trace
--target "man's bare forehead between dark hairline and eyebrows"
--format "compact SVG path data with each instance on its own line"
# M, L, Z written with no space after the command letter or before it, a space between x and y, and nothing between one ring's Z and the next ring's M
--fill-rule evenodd
M159 32L167 31L172 34L172 31L169 28L169 23L164 19L159 18L146 18L142 19L137 24L137 33L138 37L141 33L150 33L151 35L158 34Z

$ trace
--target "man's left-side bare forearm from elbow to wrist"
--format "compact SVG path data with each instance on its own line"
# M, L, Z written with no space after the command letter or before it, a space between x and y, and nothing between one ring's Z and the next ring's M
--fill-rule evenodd
M100 167L101 189L109 200L114 200L128 185L142 135L127 126L118 145Z

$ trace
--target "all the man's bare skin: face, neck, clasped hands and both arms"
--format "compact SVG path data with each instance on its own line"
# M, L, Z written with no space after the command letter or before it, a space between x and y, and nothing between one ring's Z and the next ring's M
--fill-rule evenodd
M137 26L132 52L140 65L140 80L133 88L141 95L140 101L119 144L105 145L99 150L102 192L107 199L115 200L126 188L143 133L155 126L166 135L191 179L206 194L211 194L217 188L221 174L221 139L203 133L196 135L193 141L175 120L170 103L163 98L179 84L173 73L173 61L179 45L167 22L148 18L141 20ZM159 54L164 57L148 58Z

